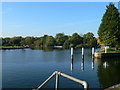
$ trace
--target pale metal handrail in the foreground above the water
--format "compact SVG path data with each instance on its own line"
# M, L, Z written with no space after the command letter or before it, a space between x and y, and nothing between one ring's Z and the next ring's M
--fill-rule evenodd
M82 80L79 80L77 78L74 78L72 76L69 76L67 74L64 74L64 73L61 73L61 72L58 72L58 71L55 71L47 80L45 80L45 82L43 82L37 89L34 89L34 90L39 90L41 87L43 87L51 78L53 78L53 76L56 75L56 85L55 85L55 90L57 90L58 88L58 81L59 81L59 76L63 76L63 77L66 77L70 80L73 80L77 83L80 83L84 86L84 89L87 90L88 89L88 83L86 81L82 81Z

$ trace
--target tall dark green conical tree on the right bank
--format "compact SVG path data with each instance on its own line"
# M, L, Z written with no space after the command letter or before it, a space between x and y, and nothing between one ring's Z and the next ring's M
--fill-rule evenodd
M100 42L104 45L118 46L120 44L120 17L118 9L113 3L107 6L103 15L98 35Z

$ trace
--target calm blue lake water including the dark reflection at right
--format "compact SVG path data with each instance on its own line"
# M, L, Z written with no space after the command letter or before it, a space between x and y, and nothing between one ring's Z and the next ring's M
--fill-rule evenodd
M89 83L90 88L106 88L120 83L120 59L92 60L91 49L74 50L2 50L3 88L37 88L54 71L60 71ZM82 88L76 82L60 77L59 88ZM55 77L44 88L54 88Z

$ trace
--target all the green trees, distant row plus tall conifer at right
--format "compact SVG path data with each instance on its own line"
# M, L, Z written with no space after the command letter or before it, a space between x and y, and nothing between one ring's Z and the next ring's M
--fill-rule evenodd
M101 24L98 29L98 38L88 32L84 35L73 33L71 36L57 33L55 37L44 35L42 37L13 37L2 38L3 46L29 46L29 47L54 47L63 48L110 46L120 48L120 12L113 3L106 6ZM97 44L97 42L99 44Z

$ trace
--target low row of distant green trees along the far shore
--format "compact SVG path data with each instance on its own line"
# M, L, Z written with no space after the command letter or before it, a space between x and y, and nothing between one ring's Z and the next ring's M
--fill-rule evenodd
M97 47L97 39L94 34L88 32L84 35L73 33L71 36L57 33L55 37L44 35L42 37L12 37L2 38L2 46L29 46L29 47L54 47L63 48Z

